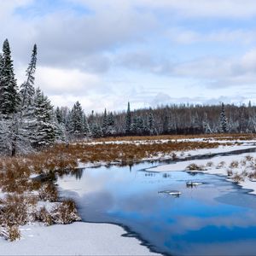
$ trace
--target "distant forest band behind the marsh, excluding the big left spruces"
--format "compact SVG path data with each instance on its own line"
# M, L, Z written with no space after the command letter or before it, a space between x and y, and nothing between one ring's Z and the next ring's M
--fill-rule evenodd
M241 106L173 104L133 111L128 102L126 112L113 113L105 109L104 113L92 112L87 116L76 102L71 111L57 108L56 113L71 137L256 132L256 107L251 102Z

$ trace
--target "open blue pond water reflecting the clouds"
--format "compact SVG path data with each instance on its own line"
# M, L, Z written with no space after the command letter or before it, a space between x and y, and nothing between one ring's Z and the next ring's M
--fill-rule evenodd
M157 252L256 253L256 196L222 177L144 172L146 167L89 168L58 183L77 201L84 221L124 224ZM188 181L201 185L188 188ZM165 190L182 194L158 193Z

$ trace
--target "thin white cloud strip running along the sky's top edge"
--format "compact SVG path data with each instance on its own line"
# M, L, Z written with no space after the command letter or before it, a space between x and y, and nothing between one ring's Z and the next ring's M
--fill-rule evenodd
M187 17L224 17L247 19L256 15L254 0L73 0L84 3L93 9L132 9L141 7L154 11L162 9L172 11L174 15Z

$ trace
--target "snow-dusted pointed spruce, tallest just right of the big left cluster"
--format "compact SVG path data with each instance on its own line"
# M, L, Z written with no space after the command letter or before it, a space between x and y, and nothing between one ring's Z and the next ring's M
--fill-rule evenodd
M79 102L76 102L71 110L69 129L74 137L84 137L84 111Z

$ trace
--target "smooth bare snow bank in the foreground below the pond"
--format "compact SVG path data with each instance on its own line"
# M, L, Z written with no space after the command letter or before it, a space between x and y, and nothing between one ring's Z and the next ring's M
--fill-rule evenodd
M20 230L20 241L0 240L0 255L156 255L114 224L31 224Z

